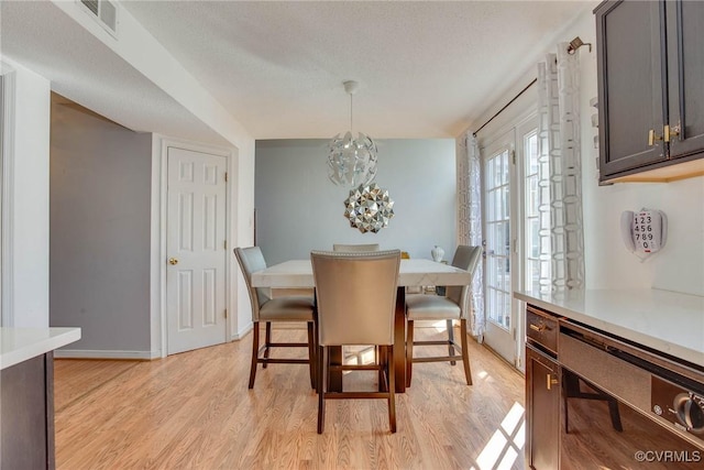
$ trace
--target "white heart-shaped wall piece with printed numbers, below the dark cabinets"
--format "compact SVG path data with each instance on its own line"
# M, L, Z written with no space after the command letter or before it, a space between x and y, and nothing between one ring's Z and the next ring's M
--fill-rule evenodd
M668 217L656 209L625 210L620 215L620 234L628 251L645 261L664 247Z

